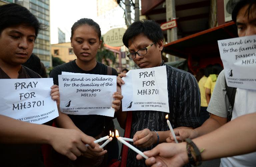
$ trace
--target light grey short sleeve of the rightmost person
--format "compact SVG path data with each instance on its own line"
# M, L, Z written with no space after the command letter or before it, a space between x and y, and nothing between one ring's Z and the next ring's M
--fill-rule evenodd
M222 70L217 78L207 111L216 116L227 118L228 107L229 102L225 87L225 72Z

